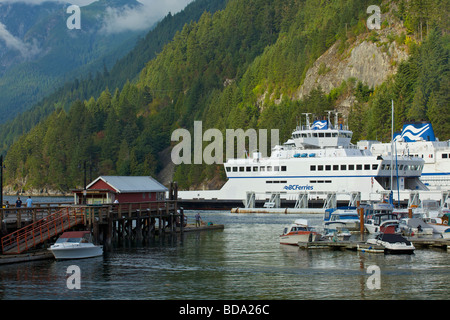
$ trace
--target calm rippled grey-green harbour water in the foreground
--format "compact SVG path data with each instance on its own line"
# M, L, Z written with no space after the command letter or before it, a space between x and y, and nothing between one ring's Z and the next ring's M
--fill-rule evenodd
M187 211L193 222L195 212ZM201 212L224 230L165 236L145 246L122 245L103 257L0 266L0 299L448 299L449 253L416 250L384 255L278 243L294 219L319 215ZM67 288L67 268L81 270L81 289ZM367 268L381 270L369 289Z

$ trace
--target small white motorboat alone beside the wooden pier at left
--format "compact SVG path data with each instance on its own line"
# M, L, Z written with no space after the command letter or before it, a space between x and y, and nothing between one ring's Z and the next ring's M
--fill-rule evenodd
M89 231L64 232L48 250L57 260L92 258L103 254L103 247L93 244Z

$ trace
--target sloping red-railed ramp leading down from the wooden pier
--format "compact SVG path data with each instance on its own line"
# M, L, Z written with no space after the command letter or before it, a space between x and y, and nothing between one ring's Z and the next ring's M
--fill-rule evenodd
M27 225L1 240L3 254L19 254L65 230L84 223L84 208L64 208Z

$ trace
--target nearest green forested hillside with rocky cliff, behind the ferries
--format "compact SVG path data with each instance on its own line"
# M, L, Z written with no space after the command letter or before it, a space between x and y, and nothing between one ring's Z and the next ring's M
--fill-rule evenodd
M382 9L386 42L366 27L369 5ZM428 119L449 139L447 10L438 0L230 0L187 23L137 81L58 108L22 136L6 156L6 183L13 190L79 187L84 161L93 176L156 175L167 165L161 155L172 131L191 130L195 120L204 130L277 128L284 141L302 113L323 115L348 96L354 102L341 111L355 139L389 137L391 99L396 129ZM308 70L331 46L345 59L364 42L381 49L395 43L407 59L392 59L397 72L375 87L349 78L330 92L318 86L298 97ZM224 173L221 166L179 165L173 178L193 188Z

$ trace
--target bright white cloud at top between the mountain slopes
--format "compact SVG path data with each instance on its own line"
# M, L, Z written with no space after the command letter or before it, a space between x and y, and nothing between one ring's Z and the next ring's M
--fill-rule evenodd
M140 8L107 8L101 32L119 33L139 31L150 28L169 12L172 14L184 9L192 0L140 0Z

